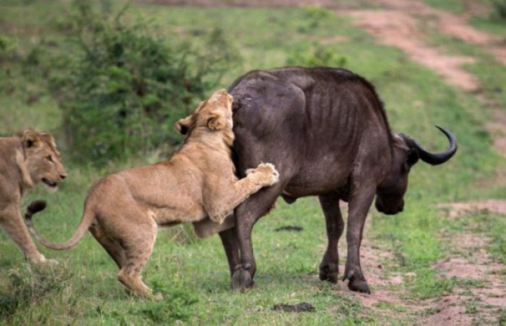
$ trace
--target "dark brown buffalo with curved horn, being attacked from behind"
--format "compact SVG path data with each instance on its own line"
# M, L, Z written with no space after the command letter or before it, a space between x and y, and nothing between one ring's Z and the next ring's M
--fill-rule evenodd
M392 133L382 102L365 79L329 67L285 67L253 71L228 89L234 97L235 162L240 176L260 162L275 164L280 181L252 195L235 210L235 229L220 233L233 289L253 284L257 269L252 227L278 196L292 203L318 195L328 244L320 279L337 282L337 242L344 229L339 200L349 203L348 256L343 280L349 289L370 293L360 263L365 216L376 197L384 214L403 210L408 173L423 162L441 164L455 154L430 153L402 133ZM301 216L303 218L303 216Z

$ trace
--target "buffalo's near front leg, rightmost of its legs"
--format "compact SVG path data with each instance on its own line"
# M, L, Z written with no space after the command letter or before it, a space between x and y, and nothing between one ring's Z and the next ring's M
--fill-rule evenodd
M343 280L348 279L348 287L351 291L370 294L370 289L362 273L360 263L360 246L365 218L375 196L375 189L362 189L353 192L356 195L349 200L348 223L346 226L346 242L348 244L348 256Z

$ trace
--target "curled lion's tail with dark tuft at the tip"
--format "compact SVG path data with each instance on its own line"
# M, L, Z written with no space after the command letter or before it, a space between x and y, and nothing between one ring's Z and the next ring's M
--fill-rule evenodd
M35 230L35 227L32 223L32 216L34 214L37 214L39 211L43 211L46 208L46 202L44 200L35 200L30 205L28 205L26 212L25 212L25 221L28 227L28 230L30 230L30 233L39 241L42 245L45 247L48 247L50 249L54 250L65 250L70 249L74 247L74 245L79 242L79 240L82 239L83 235L86 233L88 228L91 226L91 223L94 220L94 214L91 211L84 210L81 223L79 223L79 227L77 228L76 232L72 237L67 240L67 242L63 244L56 244L53 242L50 242L45 237L40 235L37 230Z

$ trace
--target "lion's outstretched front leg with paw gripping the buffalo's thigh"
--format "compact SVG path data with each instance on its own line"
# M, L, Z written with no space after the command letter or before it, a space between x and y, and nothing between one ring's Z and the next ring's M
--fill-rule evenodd
M231 185L217 188L208 200L205 208L209 219L215 223L223 223L228 214L258 190L277 183L279 173L271 163L261 163L255 169L248 169L246 177Z

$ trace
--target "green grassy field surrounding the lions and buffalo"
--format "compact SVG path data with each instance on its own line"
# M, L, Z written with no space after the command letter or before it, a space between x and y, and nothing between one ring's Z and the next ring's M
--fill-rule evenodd
M28 48L40 37L51 37L51 24L64 15L67 1L0 0L0 34ZM116 4L116 3L115 3ZM451 1L451 11L460 1ZM488 198L506 199L504 189L481 181L504 169L505 159L493 152L492 138L485 128L491 117L488 107L475 94L447 86L438 75L413 63L406 55L375 44L347 18L314 8L196 8L169 7L143 1L131 4L129 15L142 15L155 22L168 39L200 41L201 35L221 27L240 51L242 65L233 67L222 79L226 87L240 74L252 69L280 67L314 56L318 44L333 53L344 67L363 75L377 87L386 105L391 128L420 141L429 150L446 146L434 124L444 126L458 138L454 159L441 167L419 163L410 177L406 209L397 216L383 216L373 209L366 226L368 242L389 259L385 273L412 273L416 278L396 285L410 302L436 300L465 285L469 290L483 286L460 278L441 278L433 264L450 256L448 237L469 232L493 239L488 251L498 263L506 263L503 216L479 212L463 219L447 219L436 209L439 202ZM486 22L490 26L494 21ZM49 36L48 36L49 35ZM467 69L474 72L485 95L504 109L505 68L480 48L445 39L434 33L434 44L448 53L472 54L479 58ZM30 81L15 81L17 91L0 89L0 133L8 135L27 126L61 134L61 115L56 103ZM37 94L37 102L27 98ZM176 132L176 131L174 131ZM36 188L25 196L22 207L36 198L49 206L36 220L41 233L61 242L74 232L82 212L86 190L110 171L146 164L153 157L132 159L96 170L86 163L65 161L69 177L56 194ZM277 232L280 226L301 226L299 233ZM474 228L473 228L474 226ZM476 227L477 226L477 227ZM416 325L422 313L403 306L384 304L366 308L356 294L344 291L346 284L330 285L318 280L318 264L326 236L318 200L313 197L292 205L280 200L277 208L254 228L253 241L258 270L256 287L245 294L229 288L226 258L219 237L195 240L186 228L162 230L143 279L166 294L162 301L141 300L124 293L117 282L117 268L90 235L74 249L51 252L47 257L58 266L30 266L5 233L0 233L0 325ZM344 239L340 242L341 252ZM342 255L342 259L344 255ZM372 266L363 266L365 277ZM506 270L506 269L505 269ZM341 269L342 273L342 269ZM504 275L502 275L504 278ZM484 280L486 282L486 280ZM370 282L374 295L377 289ZM274 304L306 301L315 313L283 313ZM504 307L502 307L504 308ZM472 308L469 308L472 313ZM429 314L430 311L424 311ZM503 318L497 308L493 322ZM479 320L486 325L487 320Z

